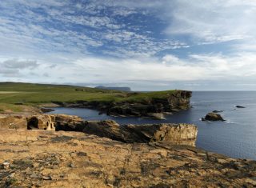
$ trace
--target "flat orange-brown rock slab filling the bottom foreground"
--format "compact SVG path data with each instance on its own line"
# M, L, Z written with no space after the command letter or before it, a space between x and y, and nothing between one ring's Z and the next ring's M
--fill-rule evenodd
M0 130L0 187L254 187L256 162L193 146Z

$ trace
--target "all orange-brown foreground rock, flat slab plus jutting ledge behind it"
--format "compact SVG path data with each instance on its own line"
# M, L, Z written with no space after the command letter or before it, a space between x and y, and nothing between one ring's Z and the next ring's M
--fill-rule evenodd
M256 186L256 162L199 150L192 125L38 114L2 115L0 127L0 187Z

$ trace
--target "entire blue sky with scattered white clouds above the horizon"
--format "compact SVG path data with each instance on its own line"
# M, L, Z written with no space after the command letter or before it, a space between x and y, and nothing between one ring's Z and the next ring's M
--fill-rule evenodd
M1 0L0 82L256 90L255 0Z

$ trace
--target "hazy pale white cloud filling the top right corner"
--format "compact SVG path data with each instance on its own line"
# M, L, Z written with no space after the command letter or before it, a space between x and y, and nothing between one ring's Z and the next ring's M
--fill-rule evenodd
M255 1L174 1L167 34L190 34L202 42L226 42L256 37Z

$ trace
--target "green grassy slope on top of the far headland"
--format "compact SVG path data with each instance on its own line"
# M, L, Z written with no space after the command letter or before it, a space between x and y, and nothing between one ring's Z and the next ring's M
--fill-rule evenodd
M138 101L146 98L162 98L173 92L174 90L128 94L121 91L80 86L0 82L0 102L9 104L17 102L25 104L42 104L47 102L75 102L78 100Z

